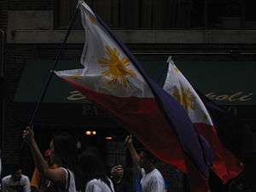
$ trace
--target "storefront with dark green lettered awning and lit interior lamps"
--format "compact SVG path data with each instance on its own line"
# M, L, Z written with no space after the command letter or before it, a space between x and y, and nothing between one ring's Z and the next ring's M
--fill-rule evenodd
M148 75L159 84L166 79L168 55L137 55ZM206 56L204 56L206 58ZM174 58L175 64L197 90L213 101L228 108L248 125L255 125L256 77L253 75L256 61L234 60L188 60ZM15 119L28 122L35 102L38 101L45 79L53 61L26 61L20 84L15 94ZM82 67L79 61L60 61L56 70ZM101 148L108 166L130 164L125 157L124 139L126 132L107 113L86 100L69 84L53 77L35 119L35 130L43 149L48 147L53 131L69 131L77 138L80 150L88 145ZM95 132L94 132L95 131ZM43 136L43 137L42 137ZM255 140L255 139L254 139ZM253 140L253 141L254 141ZM255 144L252 146L255 150Z

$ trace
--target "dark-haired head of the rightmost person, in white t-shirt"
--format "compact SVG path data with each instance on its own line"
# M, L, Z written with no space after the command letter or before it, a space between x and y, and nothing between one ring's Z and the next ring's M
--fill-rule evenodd
M148 150L141 149L139 152L139 156L140 156L139 164L141 167L148 168L148 167L154 166L156 162L156 158Z

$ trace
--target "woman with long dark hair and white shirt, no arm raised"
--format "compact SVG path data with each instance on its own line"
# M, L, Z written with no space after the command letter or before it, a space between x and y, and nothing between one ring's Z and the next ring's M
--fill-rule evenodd
M84 174L85 192L114 192L105 166L96 149L87 149L79 157L79 166Z

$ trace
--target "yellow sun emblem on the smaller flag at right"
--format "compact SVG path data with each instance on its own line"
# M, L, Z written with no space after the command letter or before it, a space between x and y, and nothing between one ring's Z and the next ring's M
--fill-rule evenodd
M195 96L189 89L187 90L174 90L173 96L177 99L177 102L183 106L186 110L195 109Z

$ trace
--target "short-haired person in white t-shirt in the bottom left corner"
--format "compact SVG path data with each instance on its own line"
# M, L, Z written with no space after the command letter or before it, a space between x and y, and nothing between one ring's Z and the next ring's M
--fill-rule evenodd
M3 177L3 192L31 192L28 177L22 174L19 166L14 166L11 175Z

